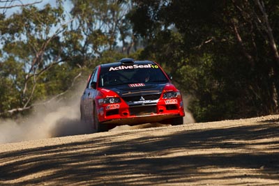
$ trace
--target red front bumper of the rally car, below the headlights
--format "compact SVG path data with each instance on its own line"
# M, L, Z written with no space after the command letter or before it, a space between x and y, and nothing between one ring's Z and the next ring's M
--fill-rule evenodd
M185 116L182 100L174 101L173 99L172 101L162 100L155 104L141 104L133 107L127 104L110 104L99 109L98 118L100 123L137 125Z

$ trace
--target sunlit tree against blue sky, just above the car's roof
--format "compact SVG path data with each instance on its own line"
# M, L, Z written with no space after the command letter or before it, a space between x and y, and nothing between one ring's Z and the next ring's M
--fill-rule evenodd
M118 39L122 42L122 51L129 51L127 39L130 39L130 24L126 14L130 10L129 1L82 0L72 1L71 13L76 18L72 33L80 32L81 54L89 52L92 58L99 58L102 52L116 49ZM130 42L133 43L133 40ZM133 44L132 44L133 45ZM85 50L85 51L84 51Z

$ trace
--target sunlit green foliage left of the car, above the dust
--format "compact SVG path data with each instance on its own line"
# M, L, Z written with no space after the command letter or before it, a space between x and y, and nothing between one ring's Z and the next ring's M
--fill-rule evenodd
M129 3L73 1L70 15L63 3L70 2L22 6L10 17L1 15L0 116L66 92L99 63L126 56L114 49L118 38L124 47L130 37Z

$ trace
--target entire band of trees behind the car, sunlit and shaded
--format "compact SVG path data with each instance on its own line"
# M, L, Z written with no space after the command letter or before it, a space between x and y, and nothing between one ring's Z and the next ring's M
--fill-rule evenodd
M2 14L0 114L124 57L160 63L196 121L278 113L279 3L259 2L59 0Z

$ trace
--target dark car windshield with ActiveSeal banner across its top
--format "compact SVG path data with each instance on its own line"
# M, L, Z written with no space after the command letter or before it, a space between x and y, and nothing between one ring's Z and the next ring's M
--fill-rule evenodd
M101 68L99 77L100 87L119 86L123 84L149 84L168 82L165 74L157 65L120 65L117 67Z

